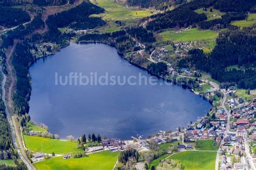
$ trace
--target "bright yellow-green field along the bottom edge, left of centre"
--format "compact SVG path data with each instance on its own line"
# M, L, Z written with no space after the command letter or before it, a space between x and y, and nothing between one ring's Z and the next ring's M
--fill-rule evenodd
M85 158L63 159L52 158L35 164L38 170L42 169L112 169L118 159L119 152L109 151L90 154Z

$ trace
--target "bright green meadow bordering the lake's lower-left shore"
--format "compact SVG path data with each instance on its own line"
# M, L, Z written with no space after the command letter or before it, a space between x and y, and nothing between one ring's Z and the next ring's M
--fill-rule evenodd
M29 135L24 135L24 140L26 147L36 152L66 154L82 151L82 149L77 148L77 142L32 137Z

